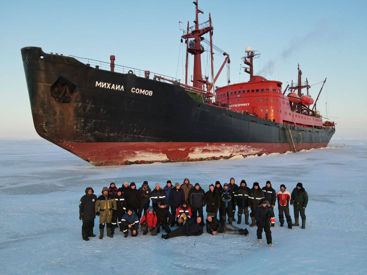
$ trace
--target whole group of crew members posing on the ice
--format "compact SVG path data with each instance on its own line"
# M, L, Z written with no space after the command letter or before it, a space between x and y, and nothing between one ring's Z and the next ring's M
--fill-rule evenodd
M237 186L234 178L223 186L219 181L216 181L215 185L210 184L207 192L199 183L195 183L194 186L190 184L188 178L185 178L182 184L175 183L174 187L170 180L167 180L163 188L156 183L153 191L148 181L144 181L139 189L134 182L130 185L124 182L120 188L111 183L109 188L102 188L102 195L99 197L94 194L91 187L87 187L86 195L81 197L79 202L79 219L83 220L82 237L85 241L89 240L88 237L95 237L93 228L96 216L99 216L99 239L103 239L105 225L106 234L110 238L113 238L115 228L120 228L124 238L128 237L129 231L131 236L137 236L139 223L143 235L150 232L155 236L162 228L167 233L161 235L164 239L201 235L204 225L207 232L212 235L226 233L248 236L246 228L242 229L232 224L236 221L237 208L237 224L241 224L244 214L245 224L248 225L250 216L250 227L257 225L258 241L262 242L262 231L265 231L266 241L271 247L273 245L270 227L275 226L276 201L281 227L284 226L284 215L288 228L298 226L299 214L302 228L305 229L306 226L307 192L302 183L297 183L291 194L286 189L286 186L281 184L280 190L276 192L270 181L266 181L263 188L255 182L250 189L245 180L241 180ZM293 224L289 204L294 208ZM206 223L204 223L204 206L207 212ZM176 225L178 228L171 231Z

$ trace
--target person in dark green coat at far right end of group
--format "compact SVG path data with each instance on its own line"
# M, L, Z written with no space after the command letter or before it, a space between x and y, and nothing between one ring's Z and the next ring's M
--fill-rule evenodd
M303 188L302 183L299 182L297 183L296 188L293 189L292 194L291 194L291 200L290 200L290 204L293 206L293 210L294 210L295 222L294 224L292 224L293 226L299 226L298 214L300 214L301 219L302 219L302 229L306 228L305 209L306 209L307 203L308 203L308 194L305 188Z

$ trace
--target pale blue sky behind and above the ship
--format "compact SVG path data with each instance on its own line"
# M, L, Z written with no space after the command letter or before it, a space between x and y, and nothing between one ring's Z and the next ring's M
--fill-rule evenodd
M367 54L366 1L199 0L214 25L214 44L230 54L231 83L248 80L240 58L250 45L261 52L255 73L297 79L297 63L310 84L326 86L317 104L338 117L336 137L367 133L363 85ZM182 79L178 21L193 25L194 5L181 1L1 1L0 138L38 138L30 112L20 49L42 47ZM204 44L205 45L205 44ZM206 62L206 57L203 56ZM224 59L215 55L215 67ZM203 61L203 63L205 63ZM192 63L192 62L191 62ZM177 65L178 70L177 70ZM217 69L216 69L217 70ZM203 70L203 74L205 70ZM225 85L225 74L216 85ZM285 87L286 85L284 85ZM317 87L315 87L317 86ZM310 90L316 98L319 86Z

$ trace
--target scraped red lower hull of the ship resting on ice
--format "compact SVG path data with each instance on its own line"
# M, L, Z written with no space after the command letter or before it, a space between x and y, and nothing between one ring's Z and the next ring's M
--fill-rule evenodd
M261 155L290 151L289 143L106 142L56 143L93 165L228 159L235 155ZM295 144L296 150L326 147L327 143Z

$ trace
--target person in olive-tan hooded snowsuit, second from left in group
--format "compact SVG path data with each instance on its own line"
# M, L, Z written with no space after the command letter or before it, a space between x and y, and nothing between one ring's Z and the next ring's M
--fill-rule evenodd
M109 194L108 188L102 188L102 195L97 198L94 206L96 216L99 216L99 239L103 239L103 230L107 224L107 236L113 238L112 231L112 210L117 209L116 201Z

